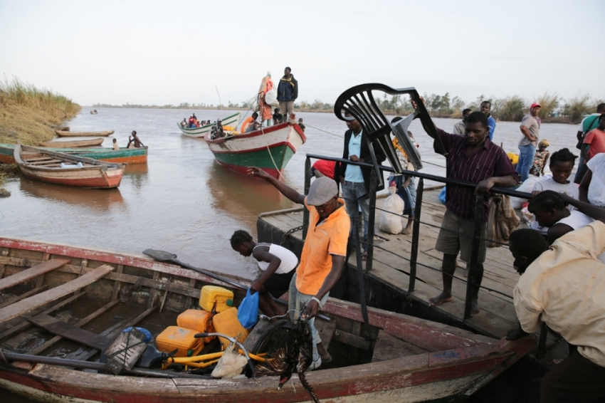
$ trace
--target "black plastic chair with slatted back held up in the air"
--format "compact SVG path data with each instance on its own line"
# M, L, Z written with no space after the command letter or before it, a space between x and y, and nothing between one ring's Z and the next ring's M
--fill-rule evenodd
M418 108L414 110L411 115L404 117L402 120L399 120L399 122L391 124L384 116L382 110L380 110L376 100L374 100L374 95L372 95L372 91L374 90L389 95L407 94L410 96L411 100L416 102ZM344 112L348 112L351 116L344 116ZM376 172L380 171L376 153L374 152L375 145L382 147L384 155L389 159L391 167L395 169L396 173L401 174L404 171L404 167L401 167L399 158L397 158L395 148L391 142L391 132L394 133L399 141L399 145L401 145L406 152L409 161L414 165L414 169L418 171L422 168L418 150L416 150L416 147L414 147L414 144L408 136L408 127L416 117L420 118L423 125L428 127L428 130L432 132L431 134L433 134L436 139L439 138L437 137L433 120L431 120L431 116L428 115L426 108L424 108L424 104L420 100L420 95L414 87L394 89L388 85L378 83L356 85L340 94L334 105L334 113L340 120L347 121L356 119L359 124L362 125ZM447 152L441 144L441 141L436 141L438 147L441 148L439 152L446 155ZM379 184L382 185L382 175L378 175L378 180Z

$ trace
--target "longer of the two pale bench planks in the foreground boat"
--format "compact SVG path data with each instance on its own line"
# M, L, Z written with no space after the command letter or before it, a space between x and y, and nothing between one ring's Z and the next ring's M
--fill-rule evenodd
M0 309L0 323L6 322L6 320L10 320L15 318L16 316L23 315L28 313L29 311L36 309L46 303L49 303L57 298L61 298L64 295L69 293L73 293L80 288L88 286L88 284L97 281L99 278L107 275L113 271L114 268L110 265L103 265L95 268L93 271L89 271L88 273L75 278L68 283L61 284L61 286L51 288L51 290L44 291L43 293L39 293L37 295L33 295L33 297L26 298L24 300L20 300L13 305L9 305L5 308Z

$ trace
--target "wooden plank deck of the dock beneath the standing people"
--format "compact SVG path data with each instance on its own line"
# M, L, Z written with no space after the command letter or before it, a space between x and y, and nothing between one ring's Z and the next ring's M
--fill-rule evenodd
M374 236L374 258L372 271L366 273L366 293L368 304L377 308L396 310L419 315L431 320L455 324L490 337L504 337L507 330L517 321L512 304L512 290L519 279L519 274L512 268L512 255L506 246L488 248L484 263L485 273L479 293L480 313L468 320L463 320L464 300L466 295L466 264L458 260L458 268L452 286L453 301L438 307L430 307L428 298L441 293L442 253L435 250L439 226L446 211L446 206L438 200L439 189L426 189L423 194L422 213L419 236L418 264L416 269L415 291L408 294L409 256L411 235L386 234L379 231L384 199L377 199L376 232ZM405 219L404 223L407 221ZM258 239L261 242L280 244L286 231L302 226L302 208L273 211L258 217ZM298 253L302 250L302 230L290 234L285 246ZM354 266L354 255L349 257L349 267L339 283L349 288L344 299L354 296L359 291L357 272ZM347 281L347 277L349 281ZM354 286L357 286L355 288ZM351 289L352 288L352 289ZM338 291L337 291L338 292ZM341 291L342 293L342 291ZM333 293L332 293L333 294ZM343 298L339 295L337 298ZM394 299L399 299L394 301Z

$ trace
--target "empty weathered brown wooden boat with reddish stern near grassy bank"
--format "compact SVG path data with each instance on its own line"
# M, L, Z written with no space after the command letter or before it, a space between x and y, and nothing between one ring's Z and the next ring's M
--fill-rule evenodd
M15 145L14 158L26 177L43 182L98 189L120 186L126 167L126 164L113 164L19 143ZM67 167L61 167L62 164Z

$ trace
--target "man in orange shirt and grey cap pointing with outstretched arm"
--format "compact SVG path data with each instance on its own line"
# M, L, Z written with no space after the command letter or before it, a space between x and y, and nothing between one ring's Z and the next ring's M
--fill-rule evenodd
M248 174L272 184L281 194L298 204L304 204L309 210L309 228L305 245L300 253L300 263L290 283L288 309L300 310L306 303L302 317L307 318L313 334L313 362L311 369L323 362L330 362L332 357L322 346L315 316L325 304L332 287L340 278L344 258L347 256L347 241L351 221L344 200L338 197L338 187L332 178L315 179L309 194L298 193L278 179L270 176L263 169L248 168Z

